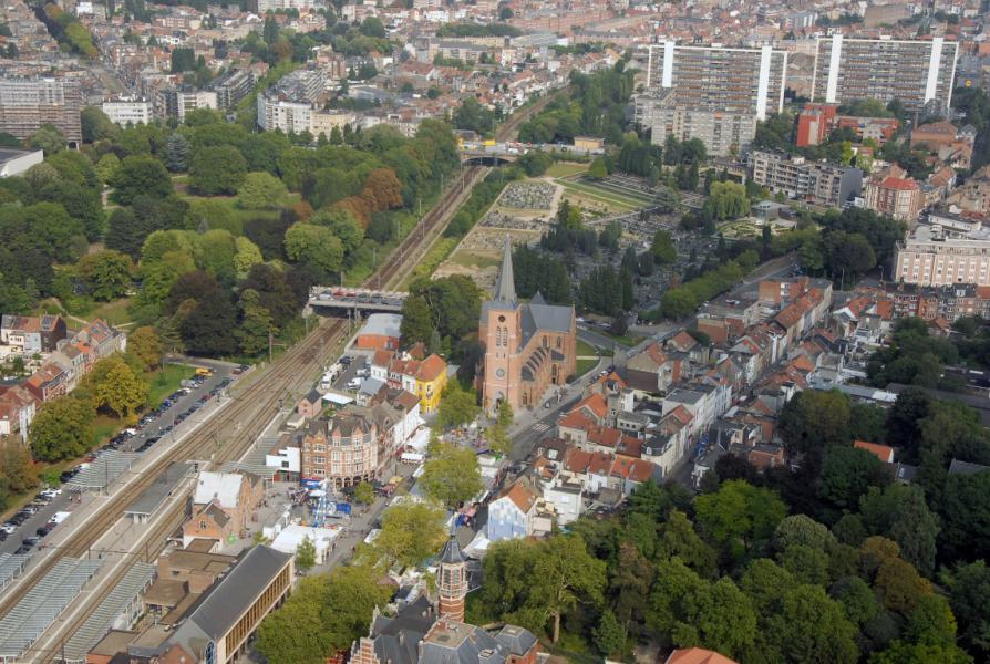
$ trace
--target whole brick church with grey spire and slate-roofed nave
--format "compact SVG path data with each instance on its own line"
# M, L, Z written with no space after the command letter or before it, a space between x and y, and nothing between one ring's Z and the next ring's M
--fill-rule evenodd
M547 388L564 385L577 366L574 307L547 304L538 292L519 302L508 237L493 298L482 304L478 324L482 406L489 414L502 401L514 411L538 406Z

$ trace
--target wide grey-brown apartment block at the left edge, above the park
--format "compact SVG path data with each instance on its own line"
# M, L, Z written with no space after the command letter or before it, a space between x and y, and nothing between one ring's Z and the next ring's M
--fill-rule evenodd
M79 84L62 79L0 79L0 132L24 139L43 124L54 125L65 142L82 143Z

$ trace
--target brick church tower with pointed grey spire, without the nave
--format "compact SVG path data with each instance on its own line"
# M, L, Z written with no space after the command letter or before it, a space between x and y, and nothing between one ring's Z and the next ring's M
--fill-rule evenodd
M482 310L486 323L482 405L494 413L499 401L519 407L520 308L513 276L513 248L508 236L502 251L502 270L495 281L494 299Z

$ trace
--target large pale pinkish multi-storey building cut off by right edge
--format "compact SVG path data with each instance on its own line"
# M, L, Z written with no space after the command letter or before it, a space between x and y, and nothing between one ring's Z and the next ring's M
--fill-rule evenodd
M943 237L928 225L918 225L897 245L894 277L905 283L990 286L990 232L980 230L961 238Z

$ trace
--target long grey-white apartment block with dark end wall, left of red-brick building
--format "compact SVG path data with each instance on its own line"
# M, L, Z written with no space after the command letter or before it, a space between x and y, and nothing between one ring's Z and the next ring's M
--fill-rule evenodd
M842 207L863 185L863 172L852 166L764 151L754 151L750 162L757 185L814 205Z

